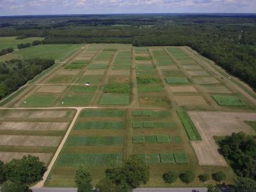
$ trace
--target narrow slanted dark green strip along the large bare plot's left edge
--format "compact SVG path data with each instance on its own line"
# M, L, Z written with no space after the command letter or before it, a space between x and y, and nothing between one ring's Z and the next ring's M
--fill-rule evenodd
M189 118L188 113L186 113L186 111L177 111L177 114L179 115L180 121L182 122L182 125L183 125L184 129L186 130L189 140L190 141L202 140L195 125Z

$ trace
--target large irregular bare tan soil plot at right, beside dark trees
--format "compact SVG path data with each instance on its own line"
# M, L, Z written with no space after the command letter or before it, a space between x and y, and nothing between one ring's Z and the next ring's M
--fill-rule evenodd
M189 111L188 114L202 137L202 141L191 141L202 166L227 166L213 136L241 131L252 134L252 127L244 121L256 120L256 113Z

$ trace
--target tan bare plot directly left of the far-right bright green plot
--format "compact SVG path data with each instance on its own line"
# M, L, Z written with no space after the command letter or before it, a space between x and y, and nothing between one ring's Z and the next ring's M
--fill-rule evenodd
M204 98L201 96L175 96L179 106L208 106L207 102L205 102Z

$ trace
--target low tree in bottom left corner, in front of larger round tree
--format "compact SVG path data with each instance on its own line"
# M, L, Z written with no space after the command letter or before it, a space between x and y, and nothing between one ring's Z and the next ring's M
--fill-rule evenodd
M4 182L1 186L1 192L30 192L31 189L25 184L15 183L10 180Z

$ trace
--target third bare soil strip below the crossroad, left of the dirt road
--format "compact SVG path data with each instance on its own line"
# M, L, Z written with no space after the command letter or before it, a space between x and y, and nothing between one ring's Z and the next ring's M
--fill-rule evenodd
M17 136L0 135L0 145L12 146L52 146L56 147L60 143L61 137L56 136Z

